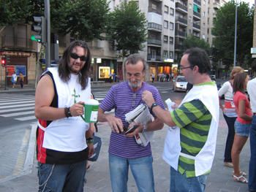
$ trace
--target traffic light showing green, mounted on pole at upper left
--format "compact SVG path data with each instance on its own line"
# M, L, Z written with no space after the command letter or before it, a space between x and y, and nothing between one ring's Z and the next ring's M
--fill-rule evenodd
M33 21L38 23L37 26L31 26L32 31L36 31L37 34L32 34L31 39L41 43L46 42L46 25L45 17L33 17Z

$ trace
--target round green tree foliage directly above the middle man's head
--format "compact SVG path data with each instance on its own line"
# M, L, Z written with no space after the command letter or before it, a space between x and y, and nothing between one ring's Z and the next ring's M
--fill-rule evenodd
M146 17L135 1L122 1L110 12L108 34L116 41L116 49L124 58L128 53L143 50L146 42Z

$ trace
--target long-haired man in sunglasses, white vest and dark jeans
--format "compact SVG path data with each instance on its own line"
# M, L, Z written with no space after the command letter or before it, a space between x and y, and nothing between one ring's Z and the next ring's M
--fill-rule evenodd
M92 130L80 118L91 99L91 53L86 42L71 42L58 68L48 68L37 85L39 191L83 191L86 159L94 153ZM85 137L86 136L86 137Z

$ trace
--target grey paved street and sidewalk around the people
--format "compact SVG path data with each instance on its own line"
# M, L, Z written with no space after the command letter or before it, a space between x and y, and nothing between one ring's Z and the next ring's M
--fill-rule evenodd
M167 91L167 93L173 94L173 92L169 91L170 82L164 82L162 85L165 85L164 88L163 86L156 85L156 87L159 86L159 92ZM110 87L110 85L106 84L105 87ZM105 94L108 93L108 91L100 93L100 89L102 88L95 85L94 92L97 92L97 99L103 99ZM4 96L8 96L6 94L7 93L5 92L0 94L0 107L7 103L7 101L4 101ZM181 94L184 95L184 93ZM33 98L31 98L31 101L32 100ZM173 101L175 100L173 99ZM29 104L29 102L27 104ZM15 105L16 113L18 112L17 105L19 104ZM6 112L1 112L1 110L5 109L0 108L0 118L3 118L2 115L6 114ZM15 118L20 117L17 116ZM19 122L23 121L20 120ZM35 121L31 122L32 126L27 126L24 128L24 131L21 132L19 132L18 125L15 128L12 128L11 133L15 133L15 137L13 137L12 134L10 134L8 131L1 132L0 191L37 191L37 161L34 150L36 126L34 123ZM86 172L87 183L85 184L84 191L111 191L110 174L108 169L108 145L110 138L110 128L107 123L98 123L98 127L99 132L96 135L102 138L102 148L98 161L90 162L90 169L88 172ZM151 141L151 148L154 157L153 166L156 191L169 191L170 166L168 166L165 161L162 160L162 150L165 143L166 131L167 126L165 126L161 131L156 131ZM233 169L223 165L223 154L226 137L227 125L222 115L220 115L217 151L214 158L214 165L212 167L211 173L208 176L206 191L248 191L246 184L233 182ZM249 153L248 140L241 152L240 158L241 170L247 173L249 167ZM16 163L13 164L13 162ZM128 191L138 191L131 172L129 172L128 186Z

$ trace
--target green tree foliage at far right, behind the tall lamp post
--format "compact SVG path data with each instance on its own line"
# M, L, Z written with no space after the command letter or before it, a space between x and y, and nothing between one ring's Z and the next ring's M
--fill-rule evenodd
M237 39L236 39L236 65L248 64L251 58L250 48L253 40L254 10L249 4L240 2L237 6ZM225 69L233 66L234 44L236 28L236 3L234 0L227 2L217 11L212 34L214 39L214 58L222 60Z

